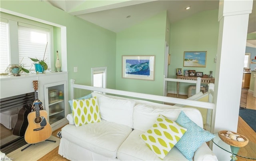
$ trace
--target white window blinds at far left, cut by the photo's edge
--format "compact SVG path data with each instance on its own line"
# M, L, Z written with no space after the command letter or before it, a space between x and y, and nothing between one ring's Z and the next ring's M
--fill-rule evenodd
M10 64L10 50L8 40L8 20L1 18L0 21L0 73L4 73Z

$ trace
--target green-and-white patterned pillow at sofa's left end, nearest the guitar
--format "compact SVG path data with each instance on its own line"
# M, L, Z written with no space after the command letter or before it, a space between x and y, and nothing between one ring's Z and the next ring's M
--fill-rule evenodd
M101 121L97 97L73 99L72 113L76 127Z

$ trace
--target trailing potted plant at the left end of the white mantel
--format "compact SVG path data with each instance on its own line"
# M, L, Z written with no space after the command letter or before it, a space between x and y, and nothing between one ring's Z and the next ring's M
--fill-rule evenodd
M24 64L21 64L22 60L20 61L20 64L10 64L6 68L5 72L2 73L1 75L8 75L11 73L14 76L20 76L20 73L22 72L29 73L29 70L24 68Z

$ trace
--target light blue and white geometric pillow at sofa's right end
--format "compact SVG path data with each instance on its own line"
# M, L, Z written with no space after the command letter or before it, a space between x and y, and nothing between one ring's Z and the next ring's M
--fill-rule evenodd
M190 161L194 157L194 152L202 143L210 141L215 136L196 125L183 111L180 112L178 119L175 121L180 126L187 129L175 146Z

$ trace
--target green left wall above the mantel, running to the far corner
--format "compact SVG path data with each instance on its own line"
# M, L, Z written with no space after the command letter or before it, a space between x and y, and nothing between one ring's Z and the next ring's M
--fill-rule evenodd
M1 0L0 3L1 8L66 26L68 79L91 85L91 68L107 66L107 87L115 88L116 33L67 14L47 2ZM60 34L57 28L54 32L57 32L56 35ZM58 41L60 40L54 41L57 46L54 46L54 54L56 50L59 54L61 52ZM77 73L74 73L74 67L78 67Z

